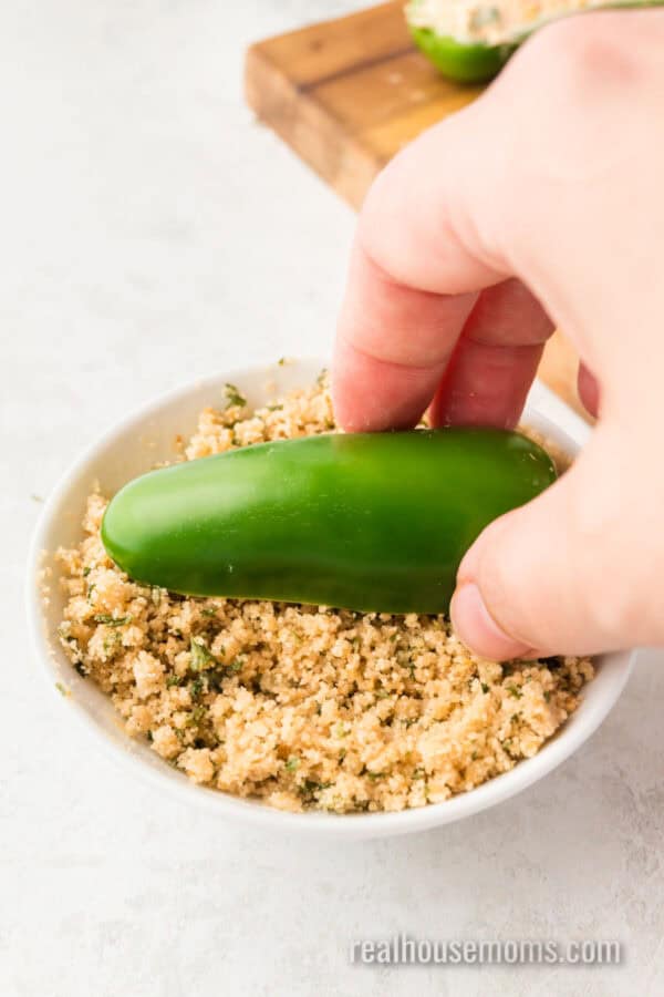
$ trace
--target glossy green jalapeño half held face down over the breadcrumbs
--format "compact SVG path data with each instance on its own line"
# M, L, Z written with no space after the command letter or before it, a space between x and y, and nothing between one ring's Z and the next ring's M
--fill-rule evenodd
M137 477L102 539L129 577L185 595L444 613L473 541L554 479L501 430L308 436Z

